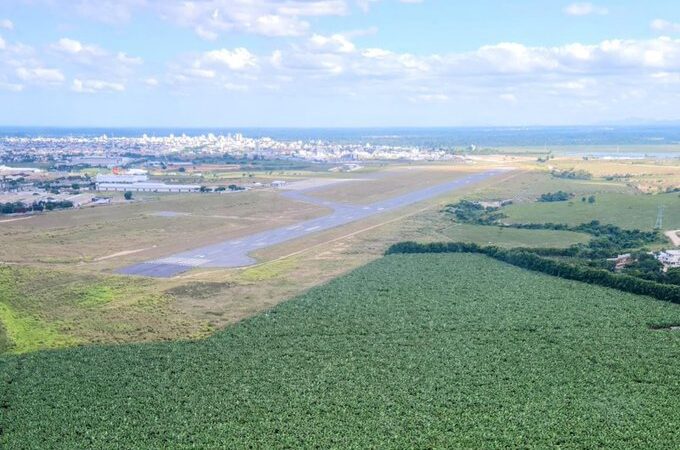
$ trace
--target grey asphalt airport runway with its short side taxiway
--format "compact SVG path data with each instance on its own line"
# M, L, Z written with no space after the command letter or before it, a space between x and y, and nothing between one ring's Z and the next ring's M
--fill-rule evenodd
M500 169L480 172L448 183L430 186L366 206L336 203L310 197L305 193L310 192L311 189L305 191L286 191L283 195L290 199L331 208L333 212L327 216L306 220L295 225L275 228L250 236L177 253L167 258L124 267L118 272L127 275L166 278L186 272L195 267L248 266L255 263L255 260L251 258L249 254L263 247L280 244L311 233L328 230L375 214L392 211L428 200L447 192L460 189L469 184L477 183L492 176L499 175L502 172L503 170Z

